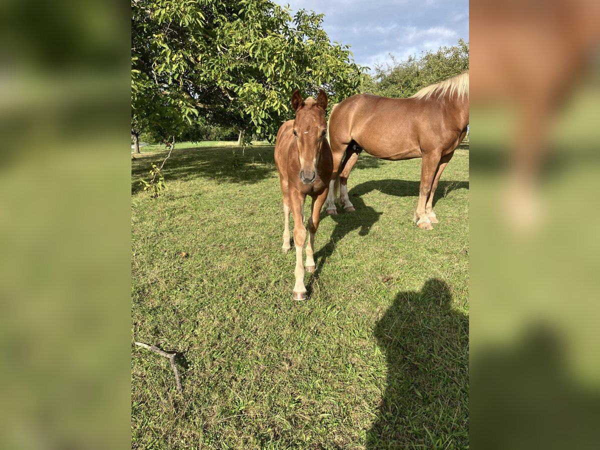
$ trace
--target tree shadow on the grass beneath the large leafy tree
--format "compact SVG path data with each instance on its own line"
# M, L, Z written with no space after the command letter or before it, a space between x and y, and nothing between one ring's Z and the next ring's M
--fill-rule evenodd
M164 178L208 178L221 183L252 184L277 173L272 146L256 148L205 147L175 148L164 164ZM142 190L139 179L149 178L152 163L160 165L168 151L136 155L131 161L131 194Z

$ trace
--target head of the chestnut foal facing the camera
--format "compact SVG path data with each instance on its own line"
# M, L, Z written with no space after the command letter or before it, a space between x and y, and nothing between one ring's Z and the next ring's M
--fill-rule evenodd
M317 100L313 97L303 100L300 92L295 91L292 94L292 107L296 110L293 133L300 154L300 181L311 184L317 178L321 149L327 132L327 94L321 89Z

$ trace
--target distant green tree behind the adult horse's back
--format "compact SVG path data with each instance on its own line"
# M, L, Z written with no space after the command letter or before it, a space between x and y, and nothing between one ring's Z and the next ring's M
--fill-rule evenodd
M469 43L462 39L451 47L440 47L437 52L410 56L398 63L392 56L392 65L376 65L374 76L365 80L362 92L383 97L406 98L425 86L448 79L469 70Z

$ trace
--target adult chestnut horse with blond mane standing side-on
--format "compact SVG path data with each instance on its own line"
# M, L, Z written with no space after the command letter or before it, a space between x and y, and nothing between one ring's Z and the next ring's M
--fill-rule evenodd
M468 124L468 71L427 86L409 98L369 94L346 98L329 117L329 144L338 179L331 181L327 212L337 214L334 181L340 184L341 205L346 211L355 210L348 198L347 181L363 150L384 160L422 158L415 222L419 228L431 230L431 224L438 223L433 212L437 183L464 139Z

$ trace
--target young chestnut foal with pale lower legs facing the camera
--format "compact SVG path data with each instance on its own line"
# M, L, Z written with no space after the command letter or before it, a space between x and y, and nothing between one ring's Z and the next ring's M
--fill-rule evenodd
M279 171L281 193L283 193L283 251L290 250L290 209L294 218L294 245L296 247L296 284L294 298L306 299L302 249L306 241L304 227L304 201L307 195L313 198L308 232L310 239L306 247L306 270L314 271L314 235L320 221L320 211L329 190L333 170L331 149L325 137L327 122L327 94L321 89L317 100L302 99L300 92L292 94L292 107L296 118L279 128L275 142L275 166Z

